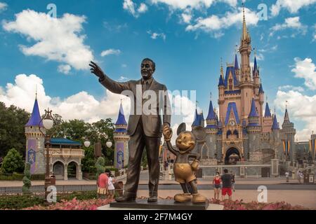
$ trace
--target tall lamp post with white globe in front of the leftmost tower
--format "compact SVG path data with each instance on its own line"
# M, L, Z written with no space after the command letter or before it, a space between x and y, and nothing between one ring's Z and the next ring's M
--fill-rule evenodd
M51 112L48 108L48 110L45 110L45 116L44 118L41 118L41 121L39 122L39 130L41 134L45 135L45 147L46 147L46 174L45 174L45 200L46 203L49 204L48 202L48 187L51 186L51 172L50 172L50 167L49 167L49 147L51 146L51 136L49 134L44 133L41 131L41 123L43 123L44 128L46 131L51 130L53 127L53 116L51 116Z

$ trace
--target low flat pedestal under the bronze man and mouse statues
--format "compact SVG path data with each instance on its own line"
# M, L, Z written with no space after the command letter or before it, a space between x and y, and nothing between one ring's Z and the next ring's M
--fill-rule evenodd
M195 203L192 202L174 202L173 200L158 200L158 202L147 202L146 199L136 200L136 202L112 202L98 210L223 210L223 205Z

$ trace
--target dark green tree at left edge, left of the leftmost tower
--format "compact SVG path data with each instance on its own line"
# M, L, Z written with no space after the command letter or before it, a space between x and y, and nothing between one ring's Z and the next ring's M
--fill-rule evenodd
M24 109L13 105L6 107L0 102L0 157L4 157L10 148L15 148L21 155L25 155L25 124L29 116Z

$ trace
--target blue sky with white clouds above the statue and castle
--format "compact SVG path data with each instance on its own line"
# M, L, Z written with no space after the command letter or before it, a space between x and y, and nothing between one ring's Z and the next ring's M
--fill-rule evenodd
M57 25L41 20L48 3L57 6ZM279 122L289 101L299 139L304 139L316 127L316 3L264 1L268 20L258 20L259 3L245 1L245 7L263 89ZM237 0L0 0L0 100L29 110L37 83L40 104L55 106L65 118L70 111L84 120L115 118L119 97L105 93L85 62L93 58L111 78L126 80L140 78L141 59L150 57L157 64L154 77L169 90L197 90L206 116L209 92L217 101L220 57L232 63L239 45L241 7ZM54 50L56 43L63 46ZM112 54L102 57L105 50ZM93 106L99 109L85 109Z

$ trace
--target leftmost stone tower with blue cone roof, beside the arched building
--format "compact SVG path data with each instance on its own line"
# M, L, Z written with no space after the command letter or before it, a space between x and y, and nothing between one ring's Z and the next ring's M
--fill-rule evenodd
M31 174L45 174L46 159L45 159L45 135L39 130L46 133L43 123L41 123L41 115L39 113L39 104L37 97L33 106L32 115L25 125L26 137L26 155L25 162L31 165Z

